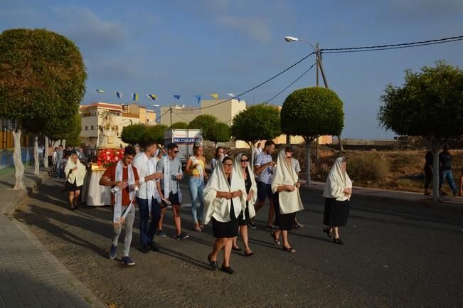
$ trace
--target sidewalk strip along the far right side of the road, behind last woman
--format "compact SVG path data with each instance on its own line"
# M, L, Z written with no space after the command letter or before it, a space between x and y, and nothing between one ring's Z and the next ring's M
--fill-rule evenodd
M305 181L302 180L305 184ZM302 189L307 189L308 191L317 191L323 193L324 182L312 181L312 186L302 186ZM463 211L463 198L462 197L452 197L452 196L442 196L442 202L433 204L432 196L425 196L424 193L413 193L408 191L386 191L383 189L376 188L365 188L353 186L353 198L361 198L375 201L392 201L407 203L409 205L415 206L426 206L430 208L440 208L448 209L454 211Z

